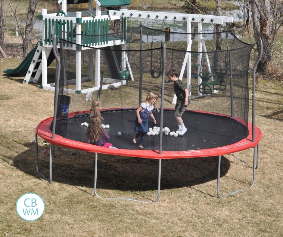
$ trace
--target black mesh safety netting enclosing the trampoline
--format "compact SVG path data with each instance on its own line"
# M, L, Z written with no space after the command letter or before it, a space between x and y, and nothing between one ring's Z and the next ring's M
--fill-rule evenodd
M80 73L81 78L88 78L87 81L93 81L92 87L95 87L95 83L100 80L95 79L97 63L105 78L130 80L129 75L123 78L123 74L119 72L131 70L135 80L142 76L143 82L157 83L158 87L154 86L153 89L161 94L162 50L165 44L165 71L174 68L180 73L180 79L188 86L191 99L198 98L201 94L210 95L205 97L207 103L199 110L237 117L244 125L242 134L248 135L248 69L253 44L242 42L232 32L186 34L140 26L107 35L73 34L72 38L62 35L64 32L59 34L59 94L66 94L68 88L76 89L73 85L76 83L76 73ZM79 37L81 44L76 43ZM187 43L189 38L190 47ZM109 46L109 42L112 42L112 46ZM72 47L81 51L80 72L76 65L77 51L72 50ZM101 52L99 58L97 50ZM126 63L123 64L124 60ZM103 84L111 82L105 81ZM169 88L167 85L165 93Z

